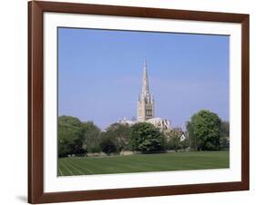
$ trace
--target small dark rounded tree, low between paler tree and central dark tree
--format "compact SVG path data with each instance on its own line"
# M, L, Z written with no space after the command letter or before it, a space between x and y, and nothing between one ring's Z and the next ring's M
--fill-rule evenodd
M111 135L108 135L107 132L101 132L99 146L101 151L107 154L118 151L115 139Z

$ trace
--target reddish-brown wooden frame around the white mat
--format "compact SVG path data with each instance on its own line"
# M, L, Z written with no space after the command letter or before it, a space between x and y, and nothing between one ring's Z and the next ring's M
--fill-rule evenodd
M44 192L44 12L134 16L241 24L241 181L128 188ZM56 2L28 3L28 202L104 200L230 190L249 190L249 15L113 5Z

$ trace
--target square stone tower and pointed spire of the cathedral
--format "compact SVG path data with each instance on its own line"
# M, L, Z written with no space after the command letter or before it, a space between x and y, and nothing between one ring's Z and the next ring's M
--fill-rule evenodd
M147 63L144 58L143 63L143 79L141 93L138 95L138 122L145 122L154 118L154 99L149 92Z

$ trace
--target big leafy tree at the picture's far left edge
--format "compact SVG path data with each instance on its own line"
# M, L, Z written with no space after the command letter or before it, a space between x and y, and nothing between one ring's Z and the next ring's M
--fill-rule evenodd
M70 116L58 117L58 156L83 153L82 122Z

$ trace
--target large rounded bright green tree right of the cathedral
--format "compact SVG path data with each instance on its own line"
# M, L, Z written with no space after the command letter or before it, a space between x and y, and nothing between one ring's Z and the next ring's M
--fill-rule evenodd
M195 151L220 150L220 118L207 110L195 113L187 123L190 147Z

